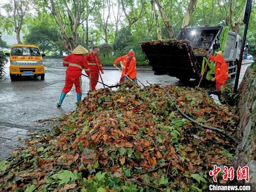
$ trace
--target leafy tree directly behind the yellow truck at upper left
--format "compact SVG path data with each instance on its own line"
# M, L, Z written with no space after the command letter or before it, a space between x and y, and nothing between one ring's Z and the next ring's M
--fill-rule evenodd
M22 29L25 15L29 10L30 0L20 0L20 1L10 1L9 3L4 4L1 9L5 10L7 16L0 15L2 19L5 20L8 24L6 30L9 31L9 34L12 34L10 29L14 27L14 32L16 33L16 39L18 44L22 44L20 39L20 30Z

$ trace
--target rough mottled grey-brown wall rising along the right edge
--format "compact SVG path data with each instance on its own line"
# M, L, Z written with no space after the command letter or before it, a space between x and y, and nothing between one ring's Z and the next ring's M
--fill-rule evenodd
M238 112L240 127L237 129L238 144L233 158L234 169L249 166L249 183L256 191L256 63L248 67L239 87L240 101Z

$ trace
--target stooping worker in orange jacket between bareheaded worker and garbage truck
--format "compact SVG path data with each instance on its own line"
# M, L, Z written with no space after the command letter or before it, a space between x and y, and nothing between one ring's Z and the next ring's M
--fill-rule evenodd
M127 55L117 57L117 59L114 61L114 67L116 67L117 63L121 62L121 61L123 62L122 77L124 77L124 82L126 82L128 80L128 78L125 76L125 75L127 75L129 78L132 79L133 82L138 84L137 79L136 79L136 75L137 75L136 59L135 59L133 51L129 51Z

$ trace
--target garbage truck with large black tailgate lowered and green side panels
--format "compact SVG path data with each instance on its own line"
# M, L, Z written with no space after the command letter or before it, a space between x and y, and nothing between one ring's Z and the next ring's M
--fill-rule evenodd
M176 39L139 42L155 75L169 75L181 82L200 79L207 57L222 51L229 76L236 76L242 39L227 26L181 29ZM208 63L205 79L214 77L214 62Z

